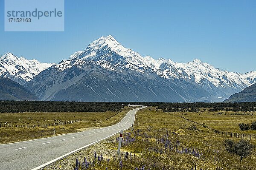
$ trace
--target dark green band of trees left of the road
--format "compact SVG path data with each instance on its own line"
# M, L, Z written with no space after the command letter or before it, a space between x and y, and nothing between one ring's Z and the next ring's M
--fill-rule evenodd
M5 101L0 102L0 113L22 112L105 112L124 108L117 102L40 102Z

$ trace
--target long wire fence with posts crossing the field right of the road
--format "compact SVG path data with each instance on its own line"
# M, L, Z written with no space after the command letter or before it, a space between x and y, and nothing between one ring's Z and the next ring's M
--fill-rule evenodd
M195 123L197 125L201 125L201 126L203 126L205 128L208 128L213 133L218 133L220 135L226 135L226 136L231 136L231 137L235 137L235 138L242 138L242 139L248 139L248 140L256 140L256 135L216 130L216 129L212 128L212 127L209 127L209 126L205 125L204 123L198 123L198 122L192 121L190 119L187 119L187 118L185 118L183 116L180 116L180 117L182 117L183 119L185 119L185 120L187 120L189 122Z

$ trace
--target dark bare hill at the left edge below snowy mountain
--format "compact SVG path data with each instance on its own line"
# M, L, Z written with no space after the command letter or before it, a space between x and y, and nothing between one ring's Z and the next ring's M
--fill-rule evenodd
M39 100L22 85L0 77L0 100Z

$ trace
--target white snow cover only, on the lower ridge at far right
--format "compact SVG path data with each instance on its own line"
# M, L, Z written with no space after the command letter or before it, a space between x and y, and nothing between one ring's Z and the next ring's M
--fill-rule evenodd
M187 63L171 62L171 64L177 69L180 77L192 79L198 84L201 84L202 80L206 79L219 88L230 87L243 90L245 87L248 87L256 81L256 72L239 74L229 71L221 71L206 62L201 62L199 59L194 59ZM169 69L169 71L172 70L173 68Z

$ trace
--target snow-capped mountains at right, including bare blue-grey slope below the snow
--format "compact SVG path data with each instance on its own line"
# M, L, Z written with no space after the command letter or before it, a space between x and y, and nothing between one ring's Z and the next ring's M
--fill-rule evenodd
M256 82L256 71L240 74L221 71L199 59L187 63L167 60L160 66L164 77L190 79L219 98L228 98Z

